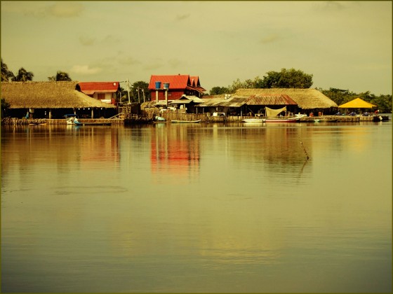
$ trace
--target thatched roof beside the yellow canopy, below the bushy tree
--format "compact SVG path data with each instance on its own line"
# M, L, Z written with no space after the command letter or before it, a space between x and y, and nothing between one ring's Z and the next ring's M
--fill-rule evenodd
M239 89L234 96L251 97L255 95L272 96L288 95L295 101L301 109L328 109L338 107L333 100L326 97L316 89Z

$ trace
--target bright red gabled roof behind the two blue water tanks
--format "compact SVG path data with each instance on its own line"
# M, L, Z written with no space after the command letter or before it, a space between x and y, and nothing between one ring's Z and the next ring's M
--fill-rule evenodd
M166 76L151 76L149 82L149 90L156 89L156 82L161 82L161 89L164 89L164 83L169 83L169 89L177 90L196 90L199 92L206 91L199 84L199 77L193 77L194 81L191 80L189 75L166 75Z

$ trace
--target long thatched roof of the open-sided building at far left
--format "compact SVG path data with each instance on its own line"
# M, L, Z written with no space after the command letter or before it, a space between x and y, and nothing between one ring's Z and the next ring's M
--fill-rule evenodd
M1 98L11 109L115 108L76 90L71 82L1 82Z

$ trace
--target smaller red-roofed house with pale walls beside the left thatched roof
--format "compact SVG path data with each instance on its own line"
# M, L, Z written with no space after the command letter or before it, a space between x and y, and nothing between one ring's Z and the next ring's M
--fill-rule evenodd
M109 104L116 104L117 93L120 92L119 82L81 82L76 87L84 94Z

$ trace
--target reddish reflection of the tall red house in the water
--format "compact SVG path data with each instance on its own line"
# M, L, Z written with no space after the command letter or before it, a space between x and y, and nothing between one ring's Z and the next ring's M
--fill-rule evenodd
M187 125L159 126L152 135L152 172L191 176L199 169L199 138Z

